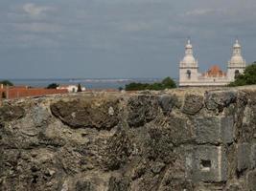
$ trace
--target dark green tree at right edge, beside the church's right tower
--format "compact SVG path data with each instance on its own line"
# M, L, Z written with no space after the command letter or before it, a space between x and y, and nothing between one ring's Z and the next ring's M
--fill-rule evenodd
M234 82L231 82L228 86L244 86L256 84L256 62L246 66L244 74L239 74Z

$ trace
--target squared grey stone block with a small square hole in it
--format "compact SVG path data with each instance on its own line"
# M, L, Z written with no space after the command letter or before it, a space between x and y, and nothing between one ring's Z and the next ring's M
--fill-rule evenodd
M195 146L186 156L188 179L207 182L227 180L227 159L222 146Z

